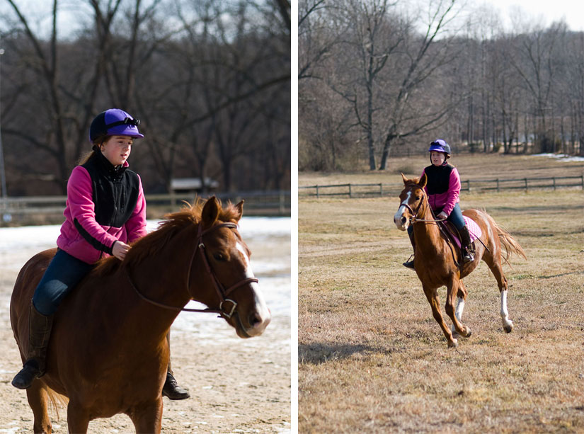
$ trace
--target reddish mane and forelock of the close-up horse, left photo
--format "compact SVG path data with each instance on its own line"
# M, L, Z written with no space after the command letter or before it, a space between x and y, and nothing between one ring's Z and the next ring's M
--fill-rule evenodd
M222 206L221 201L218 199L217 202L219 203L218 219L222 222L236 223L239 218L239 211L236 206L231 202L227 202L227 205ZM197 198L193 205L185 202L185 206L181 210L165 215L157 229L135 241L124 261L120 261L115 256L103 258L98 262L95 273L100 277L110 275L122 266L128 267L154 255L168 240L183 229L199 224L204 205L205 200L201 198Z

